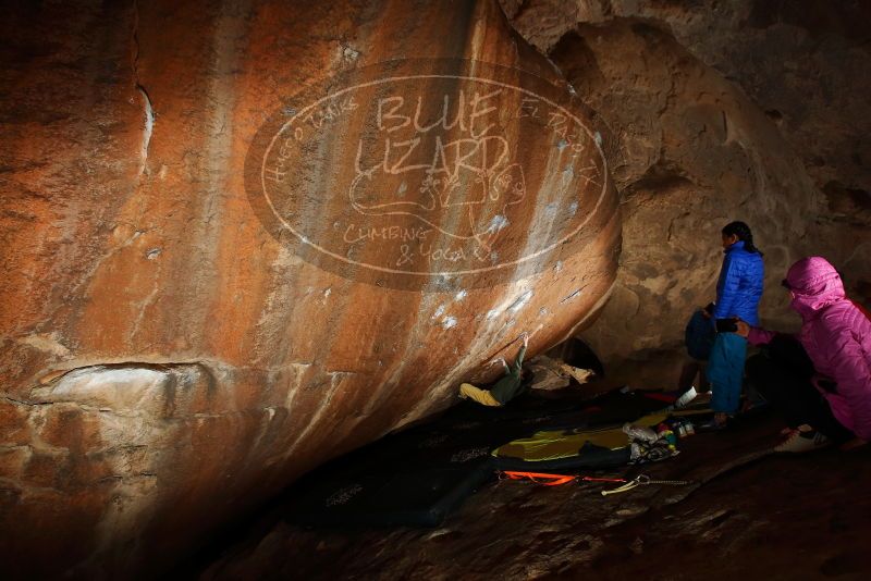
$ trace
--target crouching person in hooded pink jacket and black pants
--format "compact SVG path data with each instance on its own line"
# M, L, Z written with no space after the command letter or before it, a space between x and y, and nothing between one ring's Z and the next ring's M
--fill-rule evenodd
M738 323L739 335L768 345L747 361L747 375L792 429L775 449L871 440L871 321L824 258L799 260L783 285L801 316L797 337Z

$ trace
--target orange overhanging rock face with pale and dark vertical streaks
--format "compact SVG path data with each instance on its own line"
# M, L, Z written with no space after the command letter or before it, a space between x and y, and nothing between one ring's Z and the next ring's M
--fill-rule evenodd
M3 25L19 572L160 570L603 304L617 200L550 64L494 2L364 4Z

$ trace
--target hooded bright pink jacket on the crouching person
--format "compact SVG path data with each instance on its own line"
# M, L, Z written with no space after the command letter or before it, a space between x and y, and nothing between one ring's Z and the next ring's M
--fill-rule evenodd
M832 413L856 435L871 441L871 321L847 299L841 276L822 257L793 264L786 282L792 307L803 322L798 339L818 375L837 384L835 393L821 390ZM759 345L773 336L755 327L748 339Z

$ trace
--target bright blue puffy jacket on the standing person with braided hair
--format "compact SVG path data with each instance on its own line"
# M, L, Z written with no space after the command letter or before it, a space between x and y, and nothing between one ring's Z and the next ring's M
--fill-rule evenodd
M739 317L751 325L759 324L759 299L765 275L762 256L744 249L738 240L725 250L723 269L716 283L714 319Z

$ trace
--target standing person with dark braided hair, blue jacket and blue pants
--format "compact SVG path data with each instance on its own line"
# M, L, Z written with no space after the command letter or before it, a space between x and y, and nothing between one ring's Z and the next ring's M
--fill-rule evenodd
M716 302L710 316L715 325L716 321L737 318L757 326L764 277L762 252L753 246L753 235L744 222L726 224L722 234L726 256L716 283ZM747 339L726 331L731 329L728 321L716 326L720 332L711 348L707 375L711 383L711 408L716 412L714 422L723 427L728 416L738 410Z

